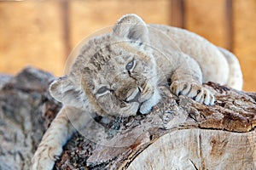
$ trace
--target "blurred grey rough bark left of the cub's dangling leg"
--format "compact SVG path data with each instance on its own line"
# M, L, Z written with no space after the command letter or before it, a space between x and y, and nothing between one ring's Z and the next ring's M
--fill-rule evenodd
M60 109L48 92L54 77L26 68L0 76L0 170L29 169L33 152Z

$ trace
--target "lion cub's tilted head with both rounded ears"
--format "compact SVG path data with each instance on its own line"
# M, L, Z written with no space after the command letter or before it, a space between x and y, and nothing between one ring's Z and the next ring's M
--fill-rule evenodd
M102 116L135 115L157 90L149 44L143 20L135 14L125 15L112 33L84 45L69 75L51 84L51 95L64 105Z

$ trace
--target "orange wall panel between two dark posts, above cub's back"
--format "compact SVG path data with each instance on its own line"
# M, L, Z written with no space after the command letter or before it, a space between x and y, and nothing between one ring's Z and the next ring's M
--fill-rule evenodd
M186 0L186 29L207 38L210 42L226 48L225 42L225 1Z

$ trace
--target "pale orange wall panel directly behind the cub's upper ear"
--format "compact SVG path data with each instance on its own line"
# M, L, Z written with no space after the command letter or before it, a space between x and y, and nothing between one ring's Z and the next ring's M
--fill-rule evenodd
M147 23L170 25L171 3L167 0L72 1L71 42L74 47L82 38L107 26L113 26L124 14L138 14Z

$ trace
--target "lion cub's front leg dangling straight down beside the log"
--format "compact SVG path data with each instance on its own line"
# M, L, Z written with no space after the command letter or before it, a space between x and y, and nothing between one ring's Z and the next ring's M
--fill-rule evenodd
M44 133L32 158L32 170L52 169L56 159L61 156L62 146L73 134L74 128L68 120L68 108L62 108L49 129Z

